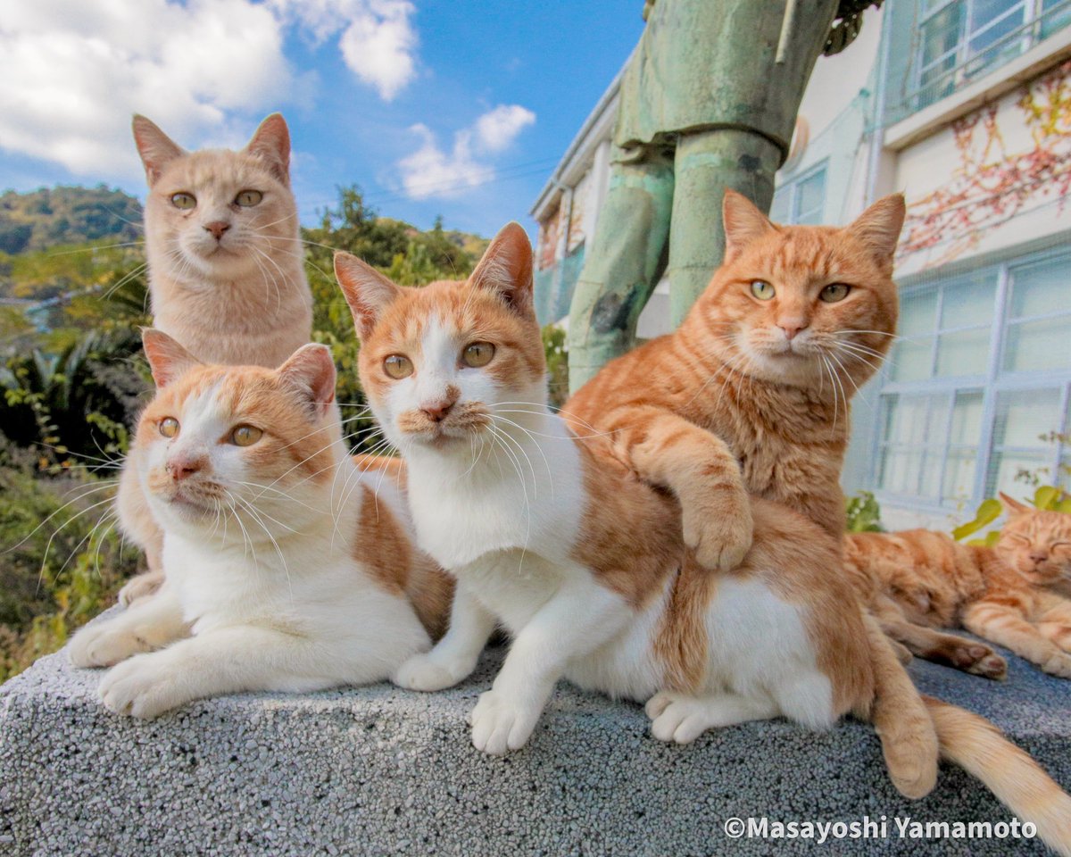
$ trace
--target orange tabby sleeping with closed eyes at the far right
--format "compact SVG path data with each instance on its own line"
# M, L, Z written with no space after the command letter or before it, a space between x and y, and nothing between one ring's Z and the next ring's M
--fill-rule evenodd
M1008 522L994 547L924 529L861 532L845 537L845 566L886 631L922 658L1002 678L1002 658L961 663L960 648L978 644L932 630L965 628L1071 678L1071 515L1000 500Z

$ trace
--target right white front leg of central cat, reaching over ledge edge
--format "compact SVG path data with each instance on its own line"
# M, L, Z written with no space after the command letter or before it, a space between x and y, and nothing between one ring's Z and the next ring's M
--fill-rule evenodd
M588 580L565 583L521 629L495 683L480 694L469 716L473 746L494 755L524 747L570 661L607 643L633 616L609 589Z

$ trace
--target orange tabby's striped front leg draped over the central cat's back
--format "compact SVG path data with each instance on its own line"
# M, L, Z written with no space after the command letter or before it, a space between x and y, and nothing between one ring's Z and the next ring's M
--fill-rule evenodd
M740 465L725 442L659 408L621 408L606 423L640 479L677 495L684 542L699 565L737 568L754 524Z

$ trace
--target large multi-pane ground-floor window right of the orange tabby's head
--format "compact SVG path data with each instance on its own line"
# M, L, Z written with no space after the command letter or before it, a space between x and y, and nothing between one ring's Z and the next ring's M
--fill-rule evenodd
M955 507L1071 487L1071 253L905 289L883 372L874 479L888 499Z

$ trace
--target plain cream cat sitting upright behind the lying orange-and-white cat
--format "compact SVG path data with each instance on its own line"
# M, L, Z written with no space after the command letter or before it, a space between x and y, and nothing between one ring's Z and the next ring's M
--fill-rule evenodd
M209 363L280 365L308 342L313 319L285 120L269 116L241 151L186 152L144 116L134 117L134 139L149 183L145 238L156 329ZM120 522L155 571L161 531L133 469L119 488ZM159 583L159 573L136 577L121 600Z

